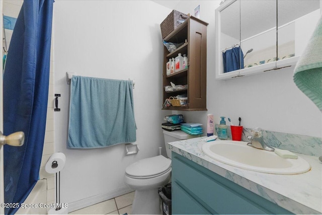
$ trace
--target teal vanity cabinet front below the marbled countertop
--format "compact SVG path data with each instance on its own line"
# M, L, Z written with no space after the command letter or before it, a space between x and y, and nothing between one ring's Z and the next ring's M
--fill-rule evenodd
M292 214L172 152L173 214Z

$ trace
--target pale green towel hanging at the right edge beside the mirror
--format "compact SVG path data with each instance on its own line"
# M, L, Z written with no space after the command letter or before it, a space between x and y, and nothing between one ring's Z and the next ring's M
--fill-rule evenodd
M293 81L322 111L322 16L295 66Z

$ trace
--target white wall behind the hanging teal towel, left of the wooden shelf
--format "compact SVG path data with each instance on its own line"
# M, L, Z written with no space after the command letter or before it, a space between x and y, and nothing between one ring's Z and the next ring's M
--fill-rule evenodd
M161 110L163 43L159 24L170 12L150 1L55 1L55 93L61 94L61 111L54 115L55 142L56 151L66 155L61 202L75 205L125 192L125 168L158 155L158 147L164 147L160 124L171 112ZM70 86L66 71L135 81L137 155L125 156L124 144L67 149Z

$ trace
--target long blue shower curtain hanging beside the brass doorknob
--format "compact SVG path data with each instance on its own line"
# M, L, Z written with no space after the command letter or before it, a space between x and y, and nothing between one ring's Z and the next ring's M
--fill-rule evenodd
M39 178L49 86L53 0L25 0L4 73L4 134L25 133L22 147L4 146L5 202L23 202ZM18 208L5 208L14 214Z

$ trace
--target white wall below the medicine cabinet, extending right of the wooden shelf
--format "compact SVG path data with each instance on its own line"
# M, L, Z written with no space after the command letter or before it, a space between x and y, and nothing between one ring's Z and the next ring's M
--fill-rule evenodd
M187 121L206 124L207 113L215 122L220 116L230 117L234 123L241 117L245 127L322 136L321 112L293 83L293 69L276 70L251 77L215 80L215 9L220 1L182 1L175 7L182 13L194 14L200 5L200 19L207 28L207 109L182 112ZM175 113L179 113L176 111Z

